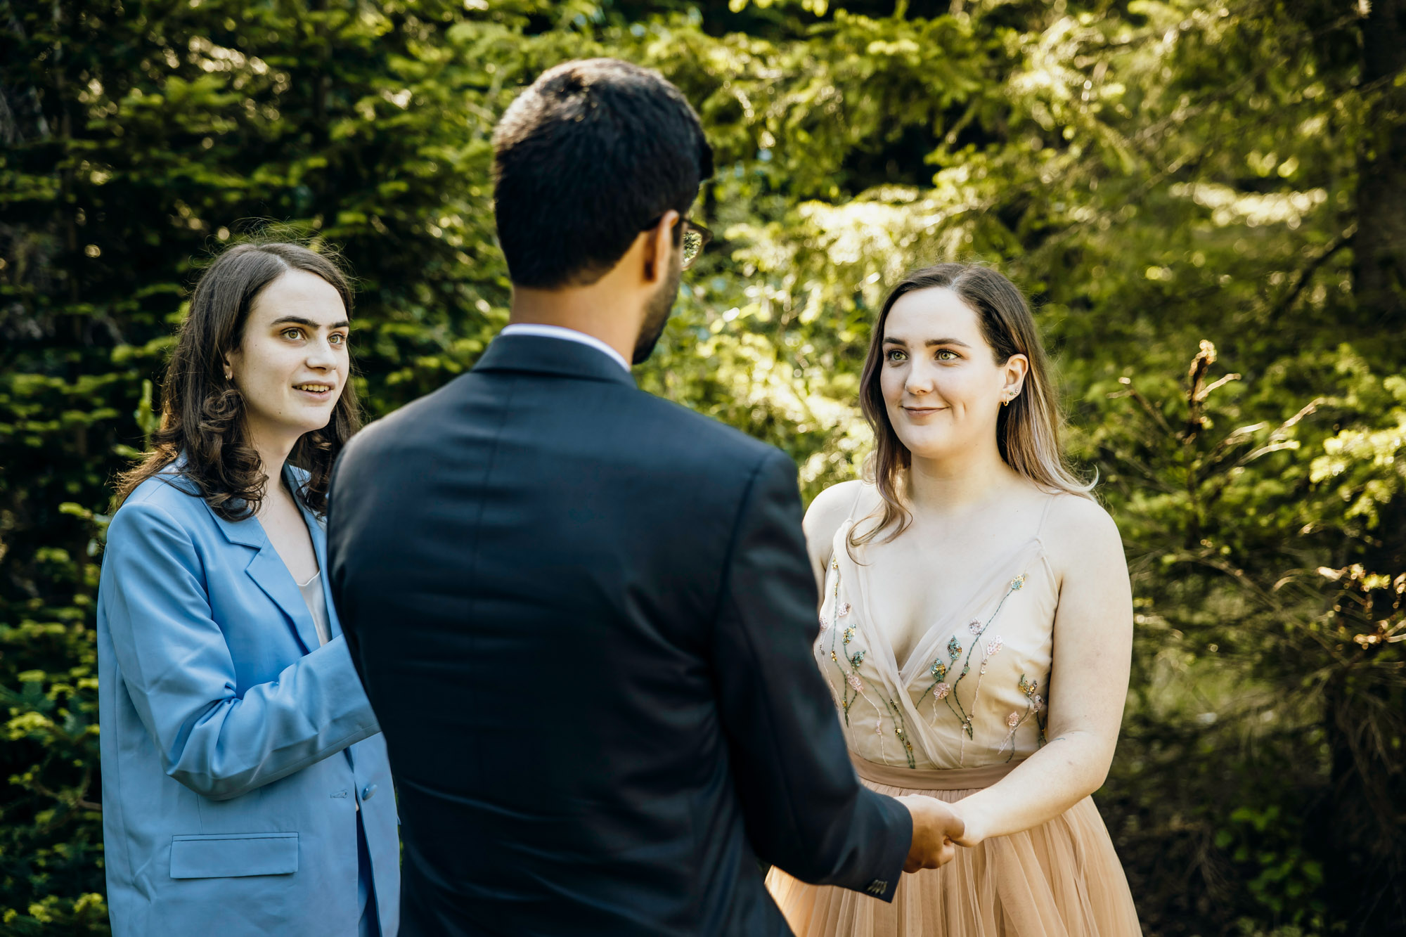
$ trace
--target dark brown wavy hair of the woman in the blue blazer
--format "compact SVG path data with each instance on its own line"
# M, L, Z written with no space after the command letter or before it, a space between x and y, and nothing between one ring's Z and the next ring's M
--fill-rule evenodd
M352 315L352 286L335 253L318 253L281 241L239 243L205 267L180 326L176 350L162 383L162 422L150 450L117 478L112 511L148 478L184 459L179 474L226 521L252 516L264 497L269 476L249 442L245 400L225 378L225 356L243 343L254 300L288 270L326 280ZM350 381L322 429L304 433L288 460L308 471L295 492L318 515L326 512L332 463L361 426ZM280 467L281 468L281 467Z

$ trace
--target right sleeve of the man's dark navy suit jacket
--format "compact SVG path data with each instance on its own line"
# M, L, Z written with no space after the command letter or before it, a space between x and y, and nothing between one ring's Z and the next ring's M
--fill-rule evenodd
M912 817L859 784L811 647L815 577L796 466L770 450L735 522L713 649L724 730L758 855L801 881L891 900Z

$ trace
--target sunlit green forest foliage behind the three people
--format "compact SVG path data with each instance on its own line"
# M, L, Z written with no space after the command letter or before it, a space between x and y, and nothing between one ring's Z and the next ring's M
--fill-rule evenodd
M1036 301L1128 544L1098 803L1149 934L1406 931L1400 0L0 0L0 930L105 933L108 483L195 264L340 245L381 415L506 319L489 134L568 58L695 103L721 235L648 390L852 477L872 315ZM591 172L582 166L581 172ZM1188 370L1189 369L1189 370Z

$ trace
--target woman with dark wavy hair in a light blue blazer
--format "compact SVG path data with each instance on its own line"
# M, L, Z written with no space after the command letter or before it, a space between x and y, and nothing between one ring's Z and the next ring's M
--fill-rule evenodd
M120 480L97 613L117 937L396 933L385 743L323 575L350 308L312 250L226 250Z

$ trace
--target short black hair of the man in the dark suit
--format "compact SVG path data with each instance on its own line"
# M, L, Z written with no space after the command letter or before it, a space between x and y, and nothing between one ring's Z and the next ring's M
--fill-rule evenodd
M494 131L494 211L517 286L586 286L645 225L688 214L713 174L697 114L661 75L619 59L565 62Z

